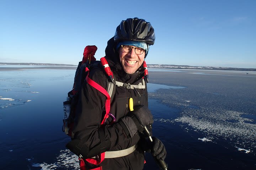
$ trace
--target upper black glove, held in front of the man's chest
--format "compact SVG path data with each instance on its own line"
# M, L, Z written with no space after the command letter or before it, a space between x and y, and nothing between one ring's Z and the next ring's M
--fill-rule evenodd
M143 132L145 126L154 123L150 110L143 105L134 106L134 111L131 111L129 116L133 119L139 132Z

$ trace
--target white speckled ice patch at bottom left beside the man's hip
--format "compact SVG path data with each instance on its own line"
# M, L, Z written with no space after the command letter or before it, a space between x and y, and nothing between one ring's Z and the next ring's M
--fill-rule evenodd
M27 159L31 162L31 159ZM57 161L54 163L32 163L33 167L41 167L41 170L52 169L74 169L80 170L78 156L69 151L68 149L61 150L57 156Z

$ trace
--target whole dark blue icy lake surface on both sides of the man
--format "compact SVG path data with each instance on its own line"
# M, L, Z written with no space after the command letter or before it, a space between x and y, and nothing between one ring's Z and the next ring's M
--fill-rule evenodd
M75 68L9 67L0 66L0 169L79 169L62 132ZM255 72L149 69L149 80L169 170L256 169ZM146 162L158 169L149 153Z

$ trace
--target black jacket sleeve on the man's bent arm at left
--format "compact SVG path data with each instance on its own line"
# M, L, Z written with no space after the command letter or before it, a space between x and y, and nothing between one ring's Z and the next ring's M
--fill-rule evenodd
M89 77L102 87L106 87L107 80L100 69L92 69ZM102 118L106 113L105 102L106 97L100 91L87 83L83 85L76 108L73 132L74 139L81 140L87 150L93 151L87 155L88 157L108 150L126 149L139 141L138 135L134 136L133 140L128 138L118 122L101 127Z

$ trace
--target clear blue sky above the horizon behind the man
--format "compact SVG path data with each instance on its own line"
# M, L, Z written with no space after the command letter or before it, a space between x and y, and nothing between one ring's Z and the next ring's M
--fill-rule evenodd
M148 64L256 68L255 0L1 0L0 62L77 64L126 18L155 29Z

